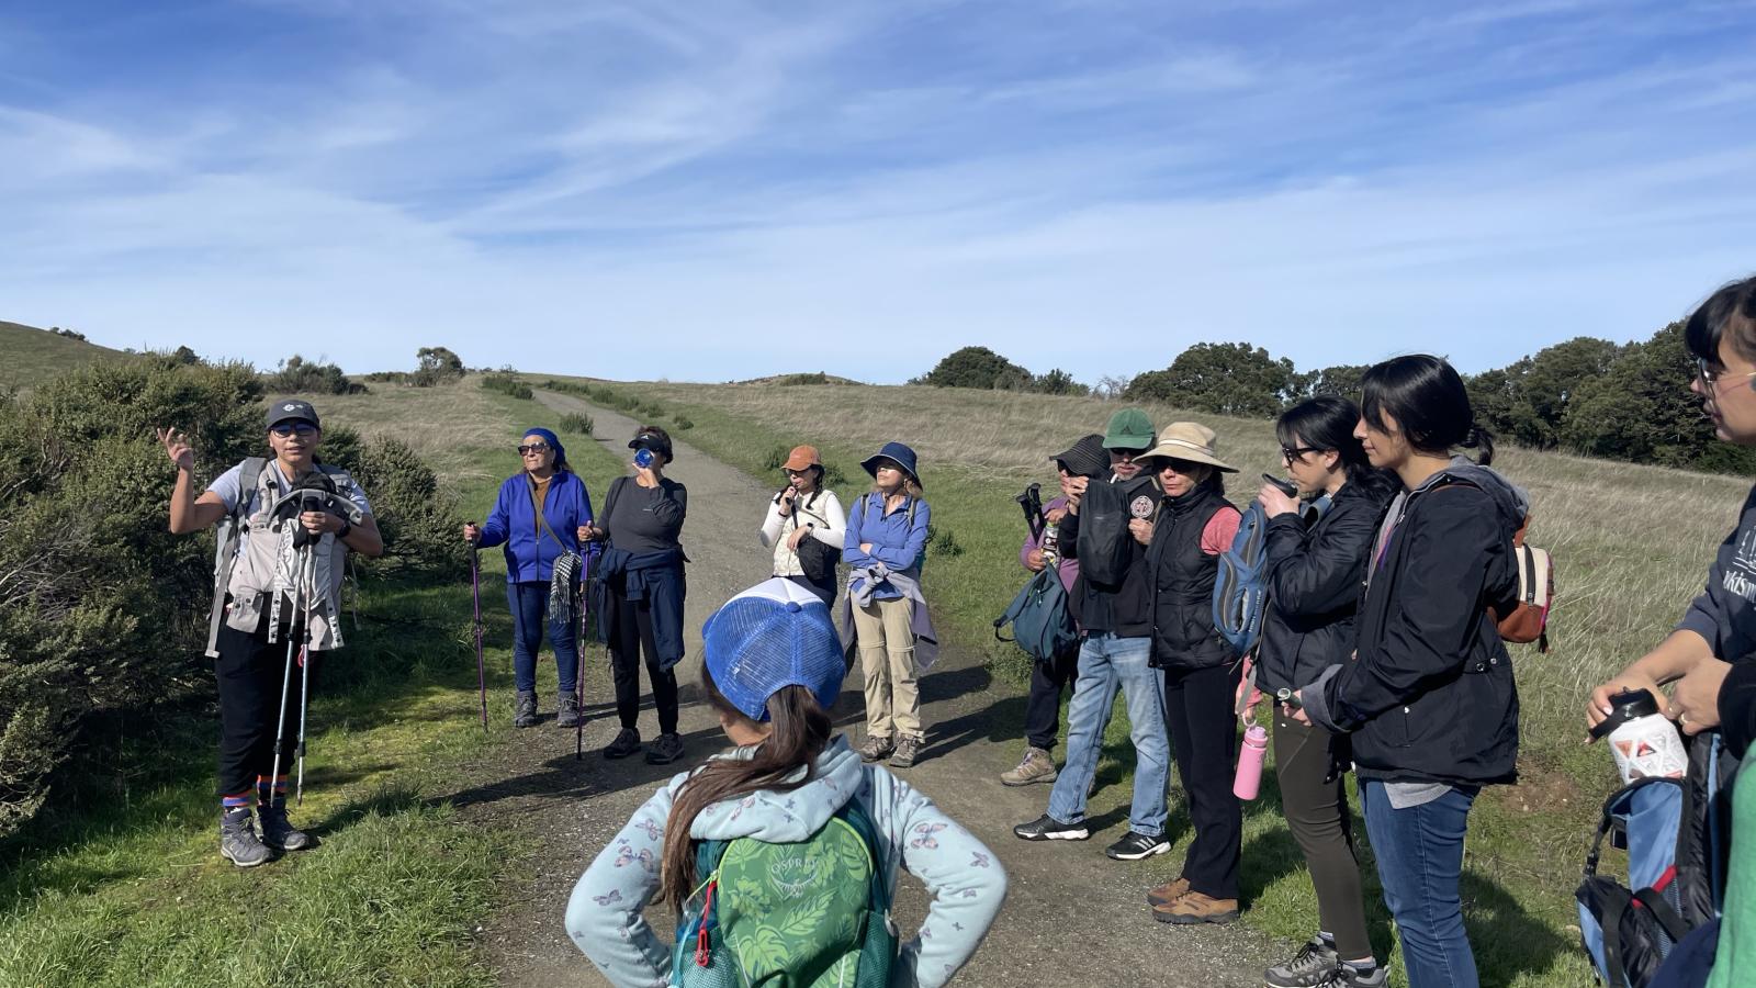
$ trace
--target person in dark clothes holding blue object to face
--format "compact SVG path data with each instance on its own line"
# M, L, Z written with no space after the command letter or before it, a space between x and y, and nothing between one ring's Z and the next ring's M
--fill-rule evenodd
M658 425L641 425L629 440L634 450L625 476L604 492L604 510L579 536L602 543L594 561L588 607L602 624L609 645L609 670L616 684L616 717L622 730L604 747L604 758L639 754L641 745L641 654L653 686L658 737L646 747L646 761L669 765L683 758L676 733L676 665L683 661L683 519L688 489L664 475L671 466L671 434Z

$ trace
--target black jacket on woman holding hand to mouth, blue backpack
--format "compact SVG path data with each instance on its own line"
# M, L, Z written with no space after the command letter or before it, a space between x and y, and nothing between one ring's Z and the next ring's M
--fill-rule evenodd
M1299 512L1270 519L1268 614L1256 659L1263 693L1299 689L1354 654L1354 614L1387 501L1347 483L1310 529Z

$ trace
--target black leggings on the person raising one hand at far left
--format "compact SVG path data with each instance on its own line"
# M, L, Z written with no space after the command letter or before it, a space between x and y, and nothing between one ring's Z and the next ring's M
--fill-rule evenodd
M263 626L267 626L263 615ZM274 726L281 717L281 682L286 679L286 635L269 643L269 633L220 626L220 796L255 796L256 782L274 774ZM320 661L311 652L311 687L316 689ZM293 645L293 679L286 691L286 730L281 733L281 774L297 761L299 700L304 694L299 645ZM309 733L309 731L307 731Z

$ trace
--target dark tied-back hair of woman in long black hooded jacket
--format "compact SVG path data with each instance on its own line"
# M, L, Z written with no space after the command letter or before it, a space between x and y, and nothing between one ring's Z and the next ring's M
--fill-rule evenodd
M1387 432L1396 420L1408 445L1428 455L1477 450L1475 462L1494 462L1494 438L1475 424L1463 378L1440 357L1412 353L1371 366L1361 378L1361 418Z

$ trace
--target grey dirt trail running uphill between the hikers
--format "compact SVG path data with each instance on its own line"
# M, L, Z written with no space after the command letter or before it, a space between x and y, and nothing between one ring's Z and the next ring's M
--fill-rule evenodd
M557 411L588 411L597 441L618 457L625 454L622 447L634 434L634 420L571 396L539 392L537 399ZM720 601L769 575L769 554L757 543L755 529L773 490L687 443L676 443L676 462L667 475L690 494L683 527L683 547L692 559L688 654L678 668L687 684L680 728L688 745L687 766L723 747L716 721L694 686L701 624ZM594 649L587 665L583 761L572 758L572 731L544 724L522 731L516 744L472 766L474 782L453 795L465 821L513 825L539 847L529 883L515 886L518 900L495 912L479 934L502 984L604 983L562 930L567 897L585 865L634 809L680 768L650 766L639 758L606 761L599 754L618 724L602 650ZM544 673L553 677L550 668L539 665L537 675L546 712L553 712L553 679L544 680ZM1143 895L1168 870L1164 858L1155 863L1105 858L1103 847L1127 826L1129 791L1115 779L1101 779L1092 798L1094 825L1101 828L1092 840L1043 846L1011 835L1011 825L1034 819L1048 802L1048 786L1008 789L996 779L1022 754L1024 700L1017 687L992 682L980 659L946 649L922 680L922 700L929 747L915 768L897 774L982 837L1011 875L1006 907L957 984L1261 984L1263 963L1278 953L1275 944L1236 925L1154 923ZM855 740L860 710L853 673L836 714ZM657 735L650 700L641 733ZM925 902L920 884L904 875L897 925L906 932L918 928ZM669 928L660 909L650 918L660 932Z

